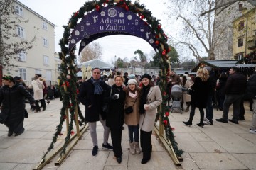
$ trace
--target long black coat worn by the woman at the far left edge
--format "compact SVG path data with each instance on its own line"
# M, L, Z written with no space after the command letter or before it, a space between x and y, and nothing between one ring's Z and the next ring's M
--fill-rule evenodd
M33 96L22 84L14 84L11 88L3 86L0 90L1 112L7 115L6 123L12 125L20 122L25 114L25 98L32 104L35 103Z

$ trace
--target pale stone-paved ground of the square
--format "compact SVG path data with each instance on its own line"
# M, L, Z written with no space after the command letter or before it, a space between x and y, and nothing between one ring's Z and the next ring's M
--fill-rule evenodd
M188 120L189 113L172 113L169 115L171 125L175 128L174 135L179 149L184 154L181 167L176 167L157 137L153 134L153 151L151 160L142 165L142 154L129 154L127 127L122 135L122 164L113 159L114 154L102 150L102 126L97 125L97 137L100 151L97 157L92 157L92 142L89 132L85 132L78 144L60 166L54 162L47 164L43 169L94 169L94 170L132 170L132 169L256 169L256 135L250 134L249 128L252 112L245 104L245 121L239 125L233 123L217 123L200 128L198 109L191 127L183 125ZM33 113L28 111L29 118L25 120L26 131L17 137L7 137L7 128L0 125L0 169L17 170L33 169L40 162L43 153L52 141L55 127L59 123L61 101L50 101L46 111ZM27 105L26 108L29 108ZM84 106L81 106L82 112ZM230 115L232 109L230 109ZM221 118L222 112L214 109L214 118ZM63 135L58 138L55 148L61 145L65 138L65 123ZM110 140L111 143L111 140Z

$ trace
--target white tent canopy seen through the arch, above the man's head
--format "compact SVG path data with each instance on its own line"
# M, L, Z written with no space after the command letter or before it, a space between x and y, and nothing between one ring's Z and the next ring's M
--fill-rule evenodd
M108 64L107 62L102 62L102 60L99 60L99 59L82 62L82 64L80 64L80 68L82 68L82 66L85 66L85 67L90 66L92 67L92 69L96 67L99 69L114 69L114 65Z

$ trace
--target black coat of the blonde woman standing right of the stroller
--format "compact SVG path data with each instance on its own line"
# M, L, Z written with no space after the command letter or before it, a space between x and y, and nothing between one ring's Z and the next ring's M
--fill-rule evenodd
M194 95L191 95L191 105L197 108L206 108L210 89L209 79L207 81L201 81L200 77L196 77L191 89L195 91Z

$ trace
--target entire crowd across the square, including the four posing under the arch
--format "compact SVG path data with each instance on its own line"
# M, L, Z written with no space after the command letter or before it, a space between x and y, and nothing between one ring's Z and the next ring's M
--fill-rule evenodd
M67 76L68 79L70 75ZM46 98L58 97L54 87L47 87L44 79L37 75L28 86L23 84L21 77L3 76L2 80L0 123L9 129L8 136L21 135L25 130L23 121L28 117L25 98L31 104L31 110L37 113L41 108L43 111L46 110L46 106L50 103ZM124 124L128 127L129 152L132 155L142 152L141 163L149 162L156 109L162 102L158 82L157 77L151 77L149 74L135 76L124 73L122 76L120 72L114 72L109 79L106 79L101 77L99 68L92 69L90 79L78 81L78 101L85 106L85 121L90 127L93 157L97 155L99 149L96 130L97 121L100 121L104 128L102 148L112 150L119 164L122 162L121 142ZM179 76L171 71L167 85L170 108L174 99L171 89L177 85L182 88L181 108L186 112L190 111L188 121L183 121L185 125L192 125L196 108L200 113L200 122L196 125L201 128L204 125L213 125L215 104L220 111L223 111L222 118L215 119L216 121L238 124L240 120L245 120L243 101L245 98L250 98L250 110L253 111L253 116L249 131L256 134L256 71L249 79L236 67L219 76L210 67L198 69L195 77L188 72ZM185 105L186 109L183 108ZM233 105L233 118L228 119L231 105ZM112 145L108 142L109 136Z

